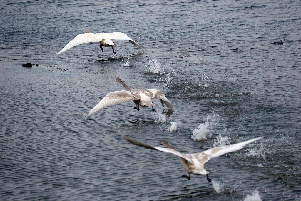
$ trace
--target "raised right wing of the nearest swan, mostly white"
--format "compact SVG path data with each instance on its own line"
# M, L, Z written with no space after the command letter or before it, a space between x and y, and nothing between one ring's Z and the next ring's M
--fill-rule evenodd
M237 144L232 144L232 145L228 145L228 146L220 146L220 147L213 147L211 149L208 149L206 151L203 151L201 153L197 153L195 155L199 155L199 160L204 159L204 155L206 160L202 160L202 163L206 163L207 161L209 161L212 158L221 156L223 154L229 153L229 152L234 152L234 151L238 151L242 148L244 148L244 146L246 146L247 144L250 144L256 140L260 140L261 138L265 137L267 135L263 135L261 137L257 137L251 140L247 140L241 143L237 143Z

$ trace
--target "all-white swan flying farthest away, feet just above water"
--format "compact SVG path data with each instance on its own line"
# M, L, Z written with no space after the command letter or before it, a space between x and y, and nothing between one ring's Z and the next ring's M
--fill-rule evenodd
M112 47L113 53L116 54L116 52L114 51L114 48L113 48L113 45L115 44L115 43L113 43L113 40L128 40L134 46L140 48L144 52L142 47L137 42L135 42L133 39L131 39L129 36L127 36L124 33L121 33L121 32L91 33L91 31L87 31L87 33L82 33L82 34L75 36L63 49L61 49L60 52L57 52L56 54L54 54L54 56L57 56L57 55L61 54L62 52L65 52L74 46L78 46L78 45L88 43L88 42L98 42L100 44L99 46L100 46L101 51L104 51L102 46Z

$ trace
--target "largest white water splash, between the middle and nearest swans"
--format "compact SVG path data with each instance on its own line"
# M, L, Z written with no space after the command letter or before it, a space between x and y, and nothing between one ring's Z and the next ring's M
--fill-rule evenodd
M214 113L208 115L205 123L203 124L200 123L197 128L192 130L191 138L195 141L207 140L207 137L211 137L212 135L212 129L216 124L217 119L218 119L218 115Z

